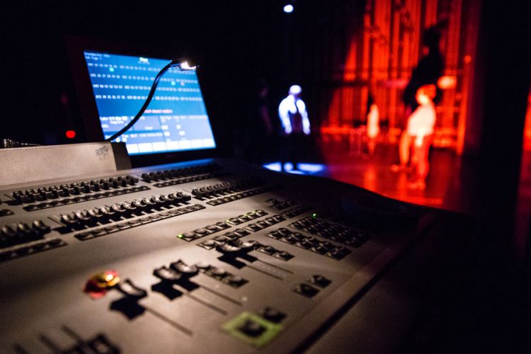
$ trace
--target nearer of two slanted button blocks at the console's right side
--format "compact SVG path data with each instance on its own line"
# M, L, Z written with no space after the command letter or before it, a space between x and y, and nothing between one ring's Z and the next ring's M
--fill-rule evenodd
M291 232L284 227L272 231L266 236L338 260L350 253L350 250L345 246L336 246L329 241L319 241L313 236L304 236L300 232Z

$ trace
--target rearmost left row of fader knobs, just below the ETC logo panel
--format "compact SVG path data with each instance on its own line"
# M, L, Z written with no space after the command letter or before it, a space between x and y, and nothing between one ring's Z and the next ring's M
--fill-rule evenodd
M101 178L93 181L81 181L70 184L50 185L41 188L31 188L27 190L16 190L11 193L14 200L21 203L39 202L47 199L57 199L68 197L69 195L79 195L84 193L98 192L99 190L109 190L110 188L123 188L127 185L135 185L138 178L135 176L118 176Z

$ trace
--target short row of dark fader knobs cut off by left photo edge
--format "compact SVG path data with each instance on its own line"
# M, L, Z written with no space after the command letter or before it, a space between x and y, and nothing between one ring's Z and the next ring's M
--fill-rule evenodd
M0 227L0 249L42 239L48 232L50 227L41 220L35 220L31 224L18 222L3 225Z

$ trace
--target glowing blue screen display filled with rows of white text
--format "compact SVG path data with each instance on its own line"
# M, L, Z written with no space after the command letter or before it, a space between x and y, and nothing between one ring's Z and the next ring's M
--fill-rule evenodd
M156 74L170 61L84 51L105 139L130 122L146 101ZM131 155L216 147L194 70L169 69L142 117L116 142Z

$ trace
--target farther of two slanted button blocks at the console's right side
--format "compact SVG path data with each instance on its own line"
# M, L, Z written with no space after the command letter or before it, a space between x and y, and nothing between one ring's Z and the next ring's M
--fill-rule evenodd
M316 219L314 217L305 217L289 225L309 234L321 236L325 239L340 242L351 247L360 247L370 236L363 232L358 232L350 227L344 227L341 224Z

